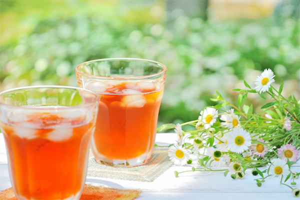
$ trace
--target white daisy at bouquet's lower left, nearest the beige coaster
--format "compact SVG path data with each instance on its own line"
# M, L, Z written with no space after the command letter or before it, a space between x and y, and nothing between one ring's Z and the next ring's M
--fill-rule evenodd
M170 146L167 150L167 154L170 157L170 160L176 165L186 164L186 161L189 158L187 150L181 146L178 146L178 144Z

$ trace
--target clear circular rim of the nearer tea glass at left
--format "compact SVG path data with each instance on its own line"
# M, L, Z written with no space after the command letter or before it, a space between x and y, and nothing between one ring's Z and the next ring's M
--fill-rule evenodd
M94 91L91 91L89 89L85 89L85 88L80 88L80 87L73 87L73 86L63 86L63 85L32 85L32 86L24 86L24 87L15 87L15 88L12 88L12 89L7 89L7 90L4 90L4 91L1 91L0 92L0 96L6 92L11 92L11 91L16 91L16 90L21 90L21 89L30 89L30 88L36 88L36 89L47 89L47 88L54 88L54 89L76 89L76 90L83 90L83 91L86 91L88 93L92 93L95 95L95 99L92 100L92 102L88 102L88 103L85 103L85 104L80 104L80 105L72 105L72 106L63 106L63 107L55 107L55 109L67 109L67 108L75 108L75 107L86 107L90 104L94 104L95 102L98 102L100 97L99 95L94 92ZM16 106L16 105L8 105L6 103L2 103L0 102L0 106L3 105L3 106L6 106L6 107L13 107L13 108L22 108L22 109L40 109L41 107L44 107L44 106Z

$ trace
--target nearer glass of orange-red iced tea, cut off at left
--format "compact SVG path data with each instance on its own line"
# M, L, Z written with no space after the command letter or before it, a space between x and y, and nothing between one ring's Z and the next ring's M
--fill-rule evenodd
M0 93L10 181L17 199L79 199L99 96L67 86Z

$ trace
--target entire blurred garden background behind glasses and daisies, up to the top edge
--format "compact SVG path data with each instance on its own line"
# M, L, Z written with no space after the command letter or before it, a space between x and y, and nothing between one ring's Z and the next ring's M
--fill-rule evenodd
M196 119L214 89L236 103L265 68L300 99L299 22L299 0L1 0L0 91L76 86L83 61L136 57L168 67L159 124Z

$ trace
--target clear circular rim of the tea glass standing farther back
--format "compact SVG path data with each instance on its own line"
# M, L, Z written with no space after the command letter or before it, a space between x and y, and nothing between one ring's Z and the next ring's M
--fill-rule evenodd
M110 77L110 76L100 76L100 75L91 75L91 74L87 74L84 73L80 70L78 70L79 66L88 63L88 62L95 62L95 61L105 61L105 60L136 60L136 61L146 61L146 62L151 62L151 63L155 63L157 65L161 65L163 67L163 70L158 72L158 73L154 73L151 75L142 75L142 76L131 76L131 77ZM100 78L100 79L117 79L117 80L126 80L126 79L143 79L143 78L149 78L149 77L159 77L161 75L163 75L164 73L166 73L166 66L160 62L154 61L154 60L149 60L149 59L142 59L142 58L129 58L129 57L120 57L120 58L103 58L103 59L94 59L94 60L89 60L89 61L85 61L82 62L80 64L78 64L75 68L75 72L79 73L81 75L84 76L88 76L88 77L94 77L94 78Z

